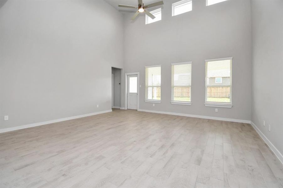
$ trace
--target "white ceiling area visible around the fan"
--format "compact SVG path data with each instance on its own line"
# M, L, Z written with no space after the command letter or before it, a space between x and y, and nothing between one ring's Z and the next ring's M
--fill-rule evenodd
M131 5L131 6L138 6L138 0L105 0L107 3L112 5L114 8L119 10L120 12L136 12L136 9L132 8L121 8L118 7L119 4L121 5ZM143 0L144 5L154 3L160 0Z

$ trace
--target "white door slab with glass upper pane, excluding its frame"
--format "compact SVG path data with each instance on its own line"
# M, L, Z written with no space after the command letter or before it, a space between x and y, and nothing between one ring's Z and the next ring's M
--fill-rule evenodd
M128 109L137 110L138 75L128 75Z

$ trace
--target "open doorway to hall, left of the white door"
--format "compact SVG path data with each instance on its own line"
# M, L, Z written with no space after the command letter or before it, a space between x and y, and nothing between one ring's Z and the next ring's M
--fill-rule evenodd
M112 108L121 107L121 69L112 67Z

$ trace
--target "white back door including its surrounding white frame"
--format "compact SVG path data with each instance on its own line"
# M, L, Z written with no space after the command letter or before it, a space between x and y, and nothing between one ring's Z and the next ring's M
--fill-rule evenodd
M139 72L125 74L125 108L139 109Z

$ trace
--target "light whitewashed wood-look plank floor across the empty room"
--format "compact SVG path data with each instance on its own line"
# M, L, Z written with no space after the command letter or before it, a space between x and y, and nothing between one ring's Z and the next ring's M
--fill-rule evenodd
M134 110L0 134L0 187L282 188L250 124Z

